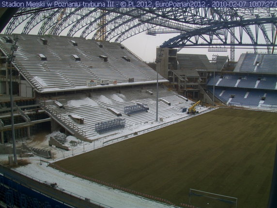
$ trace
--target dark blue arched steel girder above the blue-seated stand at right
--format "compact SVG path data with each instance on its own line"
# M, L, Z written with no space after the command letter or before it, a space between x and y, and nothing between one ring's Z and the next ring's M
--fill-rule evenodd
M185 46L205 46L205 45L222 45L222 46L230 46L231 43L228 43L228 33L232 35L235 39L235 45L240 46L273 46L273 40L267 39L268 43L259 43L258 34L256 32L256 36L249 35L252 43L243 43L243 32L249 30L250 25L262 25L262 24L272 24L277 28L277 17L269 17L269 18L256 18L256 19L246 19L241 21L227 21L220 22L216 25L208 26L205 28L196 29L194 31L186 32L185 34L178 35L170 40L164 42L161 47L162 48L179 48ZM240 28L239 37L231 32L231 28ZM222 38L221 35L217 34L217 30L224 30L225 35ZM210 33L210 38L205 37L205 34ZM249 31L247 32L249 34ZM212 36L212 37L211 37ZM217 40L220 40L220 43L213 42L213 36L216 37ZM268 36L267 36L268 38ZM200 40L203 41L200 43Z

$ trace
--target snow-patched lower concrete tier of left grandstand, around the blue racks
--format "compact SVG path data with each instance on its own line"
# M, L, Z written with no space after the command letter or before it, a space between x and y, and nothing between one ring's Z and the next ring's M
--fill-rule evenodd
M66 119L71 119L68 116L69 114L75 114L84 118L85 125L76 125L78 128L86 132L86 136L89 139L93 139L98 135L95 132L95 124L118 118L115 114L109 112L107 108L122 113L122 117L120 118L126 120L126 127L155 121L156 92L154 89L151 91L153 92L153 95L146 93L146 90L132 88L123 89L121 94L118 94L115 91L100 91L93 93L91 98L86 96L66 96L59 99L59 102L63 104L65 109L59 109L54 105L52 105L52 107L54 107L62 116L66 117ZM192 101L186 101L185 99L178 97L178 94L170 92L167 89L160 88L159 97L164 98L171 103L169 106L162 101L158 102L159 118L168 118L177 113L180 114L182 108L188 108L193 104ZM78 101L74 102L79 104L72 103L71 100L76 99L78 99ZM147 104L149 111L132 115L124 113L125 106L135 105L136 103Z

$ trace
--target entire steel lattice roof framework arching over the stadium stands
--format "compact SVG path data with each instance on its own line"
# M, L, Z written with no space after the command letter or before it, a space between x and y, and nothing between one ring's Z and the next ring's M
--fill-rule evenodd
M6 33L12 33L21 24L24 24L24 27L21 27L23 28L21 33L26 34L33 33L35 27L40 27L38 34L48 32L48 34L60 35L66 31L67 36L78 33L81 37L91 36L92 38L96 37L101 27L106 27L106 40L115 42L122 42L156 26L183 33L164 43L163 47L201 45L200 39L204 42L202 45L215 44L213 39L221 41L218 45L228 44L227 38L235 36L230 28L237 28L240 35L236 38L235 45L246 45L243 43L243 34L246 33L252 43L251 46L256 46L259 44L259 29L262 31L259 35L262 34L264 37L263 45L269 49L276 30L276 20L272 23L269 17L277 16L277 8L67 8L62 15L61 12L64 11L62 8L42 11L37 9L37 13L28 13L28 10L29 8L19 10L18 15L15 15L8 24ZM106 13L101 13L101 10L105 10ZM20 16L24 12L25 15ZM103 16L107 19L106 24L99 25L98 22ZM257 21L265 18L269 22ZM253 19L256 22L253 22ZM252 23L246 23L248 20ZM273 25L270 29L266 27L269 23ZM256 25L256 29L249 25Z

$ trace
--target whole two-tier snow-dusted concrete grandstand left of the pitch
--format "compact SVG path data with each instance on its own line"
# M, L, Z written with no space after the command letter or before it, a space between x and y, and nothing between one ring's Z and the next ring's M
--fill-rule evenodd
M12 67L16 75L14 94L18 99L35 98L36 105L52 119L51 125L48 124L52 130L62 127L77 138L91 142L102 138L103 133L106 137L119 133L118 128L148 128L148 124L156 121L157 73L123 45L54 35L17 34L16 37ZM2 57L11 53L14 38L0 35ZM1 60L0 94L8 95L10 65L4 58ZM168 82L160 75L158 81ZM193 101L160 84L158 121L188 116L184 110L192 104ZM133 109L132 106L139 113L125 112L126 108ZM5 108L9 111L8 103L1 107L2 111ZM26 123L30 123L26 105L19 109ZM45 119L45 115L42 117ZM121 121L122 124L115 124ZM24 126L20 122L16 124L18 128ZM3 128L9 124L7 119L2 123ZM99 130L99 125L104 130ZM5 129L1 134L2 143L10 135L7 133L10 128ZM30 132L30 129L16 131L16 135L30 137Z

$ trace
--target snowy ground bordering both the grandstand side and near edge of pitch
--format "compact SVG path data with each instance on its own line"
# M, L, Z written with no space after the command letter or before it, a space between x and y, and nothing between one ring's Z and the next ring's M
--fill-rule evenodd
M197 107L197 111L200 112L199 114L209 112L212 110L214 109L207 109L206 107ZM71 148L71 150L69 151L65 151L56 147L47 146L50 136L63 136L63 134L59 131L55 131L51 134L46 135L46 139L44 141L40 143L35 142L33 143L33 145L39 147L43 144L42 146L47 146L47 148L51 149L54 158L43 160L46 160L47 162L55 162L58 160L62 160L64 158L73 157L75 155L82 154L87 151L92 151L94 149L101 148L105 145L113 144L116 142L123 141L125 139L135 137L135 132L136 134L140 135L155 130L157 128L162 128L170 124L186 120L199 114L188 115L187 113L177 113L175 116L165 118L163 122L159 121L157 123L151 122L146 124L133 124L129 127L125 127L123 129L114 131L112 135L110 134L110 132L98 135L92 143L83 142L73 136L68 136L66 137L65 145L69 145L69 147ZM77 142L77 146L70 146L70 141ZM31 143L32 142L28 142L29 145L31 145ZM130 193L108 188L88 180L65 174L51 167L47 167L46 162L42 162L42 165L40 165L40 159L41 158L39 156L31 157L27 159L31 162L31 164L24 167L16 168L15 170L20 171L31 177L40 179L42 181L47 181L48 183L57 183L58 188L62 190L72 192L74 194L80 195L85 198L89 198L95 202L102 203L113 208L173 208L173 206L151 201L140 196L135 196ZM8 155L0 155L0 160L7 161Z

